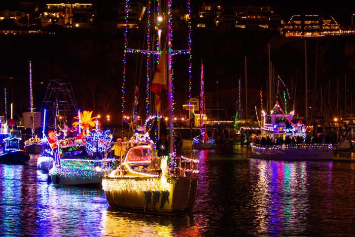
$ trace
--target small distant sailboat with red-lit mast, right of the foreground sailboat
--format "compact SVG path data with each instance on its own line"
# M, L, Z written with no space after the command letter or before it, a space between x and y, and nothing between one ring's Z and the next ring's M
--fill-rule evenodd
M205 82L204 82L204 70L203 62L201 62L201 91L200 91L200 133L201 135L194 137L192 141L193 149L215 149L216 144L213 138L207 135L206 126L206 109L205 109Z

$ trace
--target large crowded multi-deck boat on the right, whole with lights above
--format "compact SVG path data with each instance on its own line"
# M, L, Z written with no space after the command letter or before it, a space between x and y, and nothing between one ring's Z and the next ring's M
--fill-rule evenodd
M280 93L284 101L279 100L281 85L285 88ZM294 104L293 110L287 111L287 98L291 100L284 81L278 77L276 103L269 114L261 109L261 139L250 143L251 156L275 160L331 159L332 144L306 143L306 124L302 119L295 118Z

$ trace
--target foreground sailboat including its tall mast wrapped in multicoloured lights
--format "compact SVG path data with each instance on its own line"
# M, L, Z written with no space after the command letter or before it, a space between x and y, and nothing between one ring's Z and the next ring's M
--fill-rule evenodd
M131 147L126 156L120 161L121 165L117 169L105 174L102 185L108 203L114 207L134 212L176 214L191 210L197 194L198 160L176 156L173 143L174 95L172 56L181 54L181 52L190 54L191 47L189 44L188 50L172 50L172 1L167 0L162 5L158 4L156 7L151 7L149 0L146 12L149 21L150 9L157 9L158 12L160 7L165 7L166 9L167 24L165 26L166 34L164 33L166 42L163 45L166 46L167 50L166 52L164 50L157 50L157 52L150 51L150 53L159 55L160 67L165 65L166 69L163 71L167 72L170 137L168 147L170 154L168 156L157 156L156 143L147 136L146 132L137 133L131 138ZM187 7L189 9L190 26L191 11L189 1L187 2ZM128 10L129 1L126 0L125 34L127 34L128 30ZM157 33L160 35L161 30L157 29ZM134 51L146 52L142 50ZM125 42L126 52L128 52L127 41ZM162 60L162 58L166 58L166 60ZM147 85L149 85L149 80L147 80ZM159 114L155 118L160 120ZM157 130L159 135L159 126ZM160 148L158 147L158 149Z

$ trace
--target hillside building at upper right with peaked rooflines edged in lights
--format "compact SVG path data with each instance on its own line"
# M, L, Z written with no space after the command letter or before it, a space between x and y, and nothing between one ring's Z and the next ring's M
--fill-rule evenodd
M293 15L284 30L286 37L321 37L340 32L340 26L332 16Z

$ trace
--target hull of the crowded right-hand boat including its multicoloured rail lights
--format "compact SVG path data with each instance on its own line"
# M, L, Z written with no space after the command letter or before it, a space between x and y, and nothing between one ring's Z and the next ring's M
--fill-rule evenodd
M333 157L333 148L328 144L310 144L305 148L291 149L287 146L260 146L250 144L251 156L271 160L329 160Z

